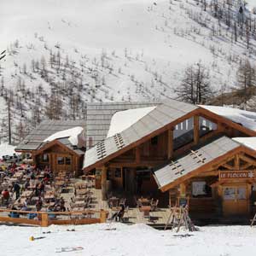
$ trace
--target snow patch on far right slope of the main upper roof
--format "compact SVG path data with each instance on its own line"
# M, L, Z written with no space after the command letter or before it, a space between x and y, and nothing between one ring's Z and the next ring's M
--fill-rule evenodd
M218 106L204 106L200 105L201 108L206 108L212 113L217 113L231 121L241 124L242 126L256 131L256 113L241 110L238 108L227 108L227 107L218 107Z

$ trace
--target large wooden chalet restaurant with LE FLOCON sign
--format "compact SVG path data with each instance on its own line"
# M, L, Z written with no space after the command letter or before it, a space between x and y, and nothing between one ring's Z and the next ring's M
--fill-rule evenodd
M104 200L123 191L188 204L193 218L254 213L256 114L166 100L135 119L85 152Z

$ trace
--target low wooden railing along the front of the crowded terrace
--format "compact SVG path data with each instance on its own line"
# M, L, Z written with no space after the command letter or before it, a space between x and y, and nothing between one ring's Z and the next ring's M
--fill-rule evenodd
M15 217L15 212L19 217ZM29 219L29 214L35 218ZM9 215L13 215L9 217ZM62 218L60 218L62 216ZM92 217L93 216L93 217ZM83 212L33 212L0 209L0 222L13 224L31 224L48 227L50 224L96 224L105 223L108 212L104 210L86 210Z

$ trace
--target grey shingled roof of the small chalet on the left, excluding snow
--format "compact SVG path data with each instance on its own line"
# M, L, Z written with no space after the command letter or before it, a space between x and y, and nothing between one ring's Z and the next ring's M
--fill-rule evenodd
M43 120L25 139L15 148L16 151L38 150L44 146L44 140L57 131L64 131L76 126L85 130L85 120Z

